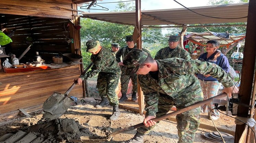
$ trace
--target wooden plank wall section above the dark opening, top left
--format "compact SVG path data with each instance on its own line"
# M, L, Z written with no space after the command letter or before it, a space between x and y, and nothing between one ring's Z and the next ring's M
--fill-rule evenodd
M0 13L72 18L72 0L0 0Z

